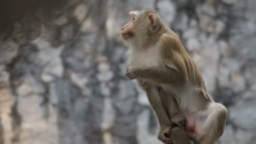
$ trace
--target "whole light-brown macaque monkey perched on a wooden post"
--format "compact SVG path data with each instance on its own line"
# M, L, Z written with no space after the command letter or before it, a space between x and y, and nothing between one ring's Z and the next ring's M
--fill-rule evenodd
M195 144L215 144L224 131L227 108L213 101L202 74L178 35L156 11L131 11L121 35L130 48L126 77L146 91L165 144L173 125L184 125Z

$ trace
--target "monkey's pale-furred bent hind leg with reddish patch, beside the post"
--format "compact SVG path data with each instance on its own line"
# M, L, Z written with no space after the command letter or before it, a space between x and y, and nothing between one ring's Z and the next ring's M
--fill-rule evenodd
M204 110L188 113L187 131L200 144L215 144L224 131L227 109L218 103L211 103Z

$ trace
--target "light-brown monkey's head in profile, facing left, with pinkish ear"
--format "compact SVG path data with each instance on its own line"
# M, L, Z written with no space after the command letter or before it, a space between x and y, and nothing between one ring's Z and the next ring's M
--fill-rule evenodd
M121 29L123 40L128 45L141 46L152 42L163 29L163 22L156 11L130 11L128 15L131 19Z

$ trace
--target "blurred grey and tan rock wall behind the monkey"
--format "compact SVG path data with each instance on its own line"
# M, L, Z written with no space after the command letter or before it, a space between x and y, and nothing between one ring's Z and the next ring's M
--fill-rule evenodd
M215 101L218 144L256 143L256 0L3 0L0 144L161 144L145 93L125 79L120 29L155 9Z

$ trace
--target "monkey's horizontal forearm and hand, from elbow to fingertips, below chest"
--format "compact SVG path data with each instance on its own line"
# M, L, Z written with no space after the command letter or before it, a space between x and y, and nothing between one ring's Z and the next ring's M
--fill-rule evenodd
M184 82L184 77L176 69L162 66L129 67L125 76L130 79L140 78L157 84L173 83L176 86Z

